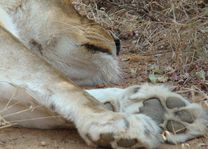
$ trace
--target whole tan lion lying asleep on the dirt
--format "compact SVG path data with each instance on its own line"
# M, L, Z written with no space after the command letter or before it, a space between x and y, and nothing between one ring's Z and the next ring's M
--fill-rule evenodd
M207 111L166 86L83 90L119 81L120 41L71 2L1 0L2 117L16 127L75 127L88 145L115 149L156 148L208 131Z

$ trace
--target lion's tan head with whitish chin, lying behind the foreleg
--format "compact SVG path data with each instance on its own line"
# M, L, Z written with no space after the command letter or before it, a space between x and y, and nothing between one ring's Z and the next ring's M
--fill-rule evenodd
M119 80L113 36L80 16L71 1L2 0L0 6L12 19L19 40L77 84Z

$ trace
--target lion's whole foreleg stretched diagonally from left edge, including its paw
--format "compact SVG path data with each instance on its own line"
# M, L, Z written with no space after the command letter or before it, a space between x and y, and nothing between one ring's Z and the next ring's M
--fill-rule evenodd
M24 88L38 103L72 121L90 145L156 147L159 127L145 115L108 111L0 28L0 81Z

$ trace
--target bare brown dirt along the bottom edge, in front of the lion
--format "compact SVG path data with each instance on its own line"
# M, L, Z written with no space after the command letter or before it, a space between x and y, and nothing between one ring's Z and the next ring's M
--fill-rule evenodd
M95 149L88 147L75 130L7 128L0 133L0 149ZM195 139L190 149L199 149L206 139ZM181 149L182 145L161 145L159 149ZM208 147L204 147L206 149ZM98 148L96 148L98 149ZM184 149L189 149L188 146Z

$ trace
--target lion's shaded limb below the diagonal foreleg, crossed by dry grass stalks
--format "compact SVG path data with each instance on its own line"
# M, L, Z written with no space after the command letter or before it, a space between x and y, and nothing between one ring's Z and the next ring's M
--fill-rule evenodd
M23 88L0 82L0 115L13 126L52 129L74 127L60 115L40 105Z

